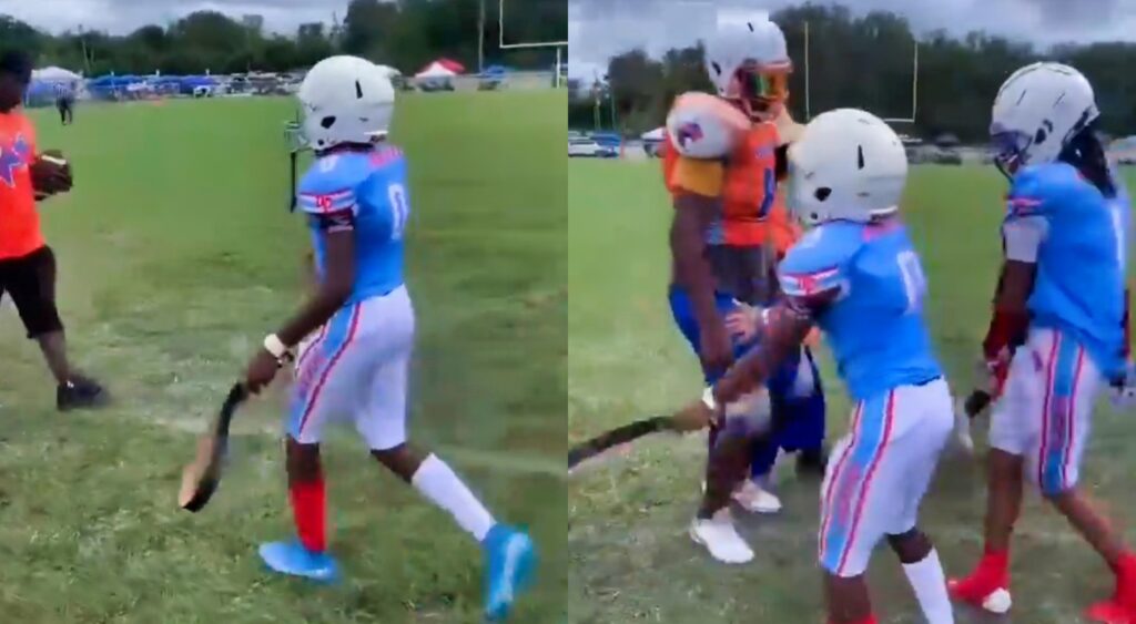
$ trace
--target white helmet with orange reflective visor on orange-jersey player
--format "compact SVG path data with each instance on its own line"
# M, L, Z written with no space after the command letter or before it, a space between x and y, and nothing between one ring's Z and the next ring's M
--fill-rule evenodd
M705 66L718 95L741 101L751 117L772 119L780 113L793 62L785 33L772 22L719 26L705 42Z

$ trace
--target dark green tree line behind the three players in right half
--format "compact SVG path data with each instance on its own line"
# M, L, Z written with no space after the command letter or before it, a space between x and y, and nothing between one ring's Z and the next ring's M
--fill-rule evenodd
M854 16L843 6L804 5L771 19L785 32L794 73L790 109L805 120L805 23L809 39L809 112L855 107L880 117L909 118L912 65L918 40L918 93L913 124L895 127L917 136L951 133L967 142L986 138L991 104L1010 74L1035 60L1068 62L1093 83L1104 132L1136 133L1136 44L1060 44L1037 50L1029 43L982 32L951 36L935 31L916 36L905 18L872 11ZM661 58L630 50L609 60L607 79L578 85L569 125L638 134L660 126L676 94L707 91L701 43L671 49ZM571 86L571 85L570 85ZM595 96L599 95L599 98ZM600 106L596 107L596 101Z

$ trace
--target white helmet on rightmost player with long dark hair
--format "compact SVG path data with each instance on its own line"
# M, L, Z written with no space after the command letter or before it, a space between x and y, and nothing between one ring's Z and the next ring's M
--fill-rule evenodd
M1100 115L1093 86L1080 71L1056 62L1027 65L1006 78L994 98L994 161L1006 174L1052 162Z

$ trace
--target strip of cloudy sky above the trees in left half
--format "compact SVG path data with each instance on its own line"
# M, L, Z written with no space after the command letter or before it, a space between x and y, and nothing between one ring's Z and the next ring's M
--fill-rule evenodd
M343 19L348 0L0 0L0 14L36 27L61 32L97 28L126 34L145 24L166 24L195 10L212 9L233 16L261 15L270 31L293 32L304 22Z

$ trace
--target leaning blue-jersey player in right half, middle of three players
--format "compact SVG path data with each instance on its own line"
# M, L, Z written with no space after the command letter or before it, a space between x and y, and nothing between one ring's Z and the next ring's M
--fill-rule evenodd
M835 110L805 127L790 149L788 201L816 227L778 267L785 297L763 314L760 346L691 407L710 418L722 405L720 425L730 427L730 404L815 326L824 332L855 400L821 490L819 558L833 624L876 622L863 573L883 539L927 621L953 622L938 555L916 524L954 416L922 317L926 280L897 216L907 170L899 137L870 113ZM740 470L744 463L718 466Z

